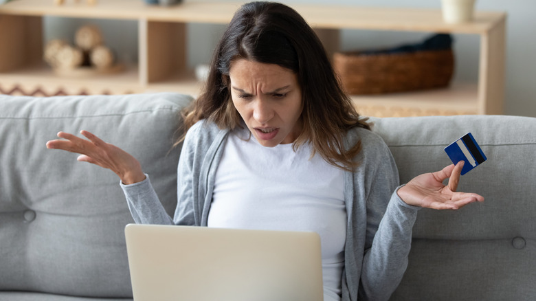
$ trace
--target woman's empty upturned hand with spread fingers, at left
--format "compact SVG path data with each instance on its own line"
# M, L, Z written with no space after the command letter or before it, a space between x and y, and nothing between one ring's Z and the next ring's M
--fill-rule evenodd
M58 137L63 139L50 140L47 148L67 150L78 153L78 161L85 161L108 168L115 172L124 184L133 184L145 179L139 161L129 153L113 144L106 143L88 131L80 131L88 140L69 133L60 132Z

